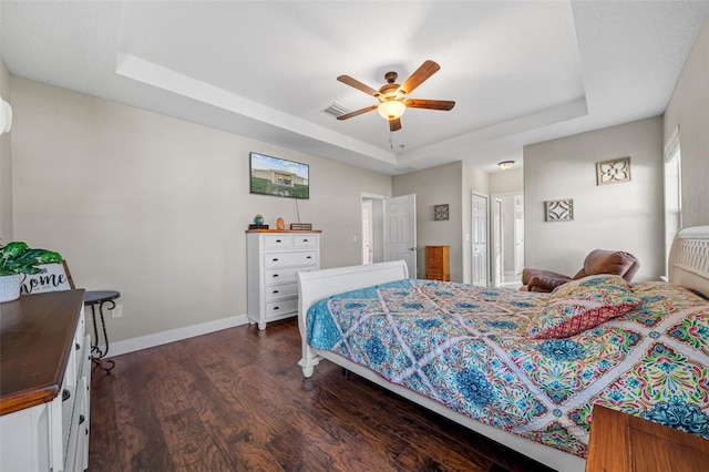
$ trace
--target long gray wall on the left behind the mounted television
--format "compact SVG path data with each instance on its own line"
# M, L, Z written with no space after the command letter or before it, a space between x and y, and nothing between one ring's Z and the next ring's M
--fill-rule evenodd
M292 199L249 194L249 151L310 165L299 211L322 229L323 268L361 263L360 195L391 194L388 175L25 79L11 89L14 236L60 252L79 287L121 291L112 341L246 312L245 229L257 213L296 219Z

